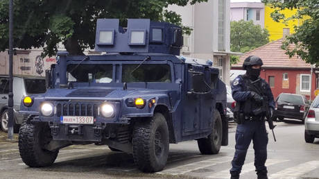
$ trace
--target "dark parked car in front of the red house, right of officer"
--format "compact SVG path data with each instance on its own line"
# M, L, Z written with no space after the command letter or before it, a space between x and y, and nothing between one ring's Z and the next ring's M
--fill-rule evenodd
M275 116L281 121L284 118L304 121L308 110L309 101L301 94L282 93L275 101Z

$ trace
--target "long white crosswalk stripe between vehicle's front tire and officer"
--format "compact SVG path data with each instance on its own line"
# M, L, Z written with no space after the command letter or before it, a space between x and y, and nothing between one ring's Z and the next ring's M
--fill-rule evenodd
M180 175L184 173L188 173L190 171L206 168L206 167L212 167L216 164L221 164L224 162L230 162L232 160L232 157L217 157L210 160L202 160L200 162L194 162L191 164L184 164L180 165L178 167L174 167L172 169L167 169L161 172L157 172L159 174L171 174L171 175Z

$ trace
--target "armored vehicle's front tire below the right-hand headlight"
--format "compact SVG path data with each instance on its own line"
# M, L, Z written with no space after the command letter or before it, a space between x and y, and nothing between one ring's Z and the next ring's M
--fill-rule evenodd
M134 161L143 172L164 169L169 157L169 128L163 114L135 123L133 138Z

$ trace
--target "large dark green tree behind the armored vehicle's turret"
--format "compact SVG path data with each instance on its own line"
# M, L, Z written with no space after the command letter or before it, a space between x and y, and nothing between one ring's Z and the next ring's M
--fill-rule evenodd
M70 54L94 48L96 19L148 18L181 25L180 15L169 5L186 6L207 0L15 0L14 46L44 47L44 56L54 56L62 42ZM0 51L8 49L8 0L0 0ZM186 33L190 28L184 27Z

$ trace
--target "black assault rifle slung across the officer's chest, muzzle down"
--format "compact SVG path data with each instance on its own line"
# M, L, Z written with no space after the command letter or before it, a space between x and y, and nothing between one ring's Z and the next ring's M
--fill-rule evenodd
M250 90L252 92L256 92L257 94L260 95L262 93L262 91L259 87L257 87L257 85L255 85L255 83L259 80L260 80L260 78L258 80L255 80L255 81L250 81L251 85L248 85L248 90ZM273 117L271 116L269 105L268 105L268 97L266 96L266 94L261 94L261 96L264 99L261 102L262 103L261 108L257 108L256 110L253 111L253 113L254 114L260 114L261 112L266 113L266 119L268 121L269 128L273 132L273 137L274 137L274 140L276 142L277 140L276 140L275 133L273 130L276 127L276 125L273 124Z

